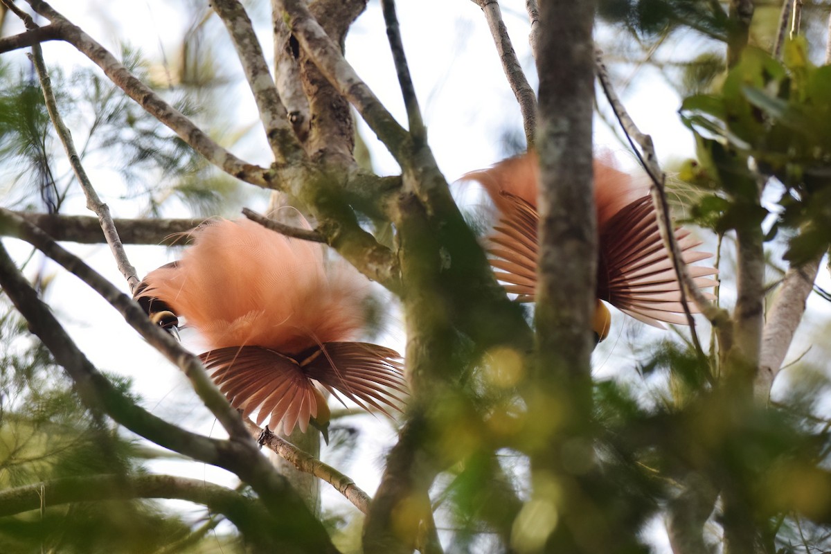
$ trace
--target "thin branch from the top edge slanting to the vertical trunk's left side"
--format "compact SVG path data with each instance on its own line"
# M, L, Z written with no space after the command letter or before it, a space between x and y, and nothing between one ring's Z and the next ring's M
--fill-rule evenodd
M508 28L502 20L502 11L499 9L499 2L497 0L473 0L484 12L484 17L488 20L488 27L491 36L494 37L496 50L499 51L499 60L502 61L502 69L505 76L508 77L508 83L511 90L514 91L517 102L519 102L519 110L522 112L523 127L525 130L525 140L528 143L529 150L534 146L534 140L537 135L537 96L534 94L534 89L528 83L525 77L525 72L519 64L514 45L511 44L511 38L508 35ZM526 6L528 2L526 2ZM530 14L529 7L529 14ZM534 8L535 9L535 8ZM539 17L539 14L537 14ZM539 28L537 22L537 29ZM534 32L534 20L531 21L531 30ZM533 37L533 34L532 34Z

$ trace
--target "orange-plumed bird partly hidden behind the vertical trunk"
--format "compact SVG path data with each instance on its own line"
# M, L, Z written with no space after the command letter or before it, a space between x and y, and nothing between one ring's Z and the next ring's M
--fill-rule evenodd
M538 256L537 154L505 159L465 178L479 181L499 210L499 223L489 236L490 263L496 277L520 302L533 302ZM647 185L595 159L594 202L599 239L593 319L597 340L606 338L611 324L611 315L601 301L652 326L663 328L661 321L686 325L681 285L661 239ZM689 265L711 254L693 249L701 241L689 231L677 228L675 236L696 286L714 287L717 282L707 277L716 273L714 268ZM688 306L696 313L696 306Z

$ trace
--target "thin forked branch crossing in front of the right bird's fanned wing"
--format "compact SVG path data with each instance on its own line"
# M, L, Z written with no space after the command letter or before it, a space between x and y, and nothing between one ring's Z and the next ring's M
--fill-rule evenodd
M672 220L670 216L669 203L666 200L666 189L664 187L666 175L663 171L661 171L661 167L658 165L655 148L652 145L652 137L644 135L637 128L634 121L632 121L632 118L629 117L626 108L623 107L622 102L612 88L612 82L609 79L606 67L603 66L602 52L597 50L596 56L597 79L600 81L603 92L605 93L609 104L612 106L612 110L617 116L617 120L620 121L623 131L626 133L630 143L637 143L637 146L640 147L637 148L635 144L632 144L632 150L634 150L638 159L640 159L643 168L646 169L647 174L650 179L652 179L652 203L656 210L658 228L661 230L661 236L664 239L664 244L669 252L678 282L681 283L681 306L684 306L686 319L691 326L692 340L696 345L696 350L703 355L701 343L698 341L696 333L695 321L692 318L690 306L687 305L687 295L692 297L693 301L696 302L696 306L698 306L701 310L701 313L703 313L713 325L725 321L726 314L719 308L713 306L712 303L704 297L704 294L696 286L696 283L692 280L690 273L687 271L686 263L683 262L684 258L681 254L681 248L678 247L678 241L676 240L675 233L672 233Z

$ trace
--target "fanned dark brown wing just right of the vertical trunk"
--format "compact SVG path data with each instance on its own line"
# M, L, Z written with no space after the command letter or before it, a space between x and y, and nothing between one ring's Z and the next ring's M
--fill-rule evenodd
M707 252L693 249L701 241L696 241L684 229L676 229L675 234L696 285L715 286L714 280L706 278L715 275L714 268L689 265L711 257ZM628 204L604 225L600 236L597 296L652 326L662 327L661 321L686 325L681 285L661 239L649 197ZM691 312L698 311L693 304L688 306Z

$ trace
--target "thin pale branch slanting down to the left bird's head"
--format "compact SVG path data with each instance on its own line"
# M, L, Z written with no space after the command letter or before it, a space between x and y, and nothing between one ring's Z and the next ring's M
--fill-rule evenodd
M89 176L86 174L84 166L81 164L81 157L75 150L75 142L72 140L72 135L69 129L61 118L60 112L57 110L57 101L55 100L55 93L52 92L52 80L49 78L47 67L43 61L43 51L41 45L32 45L32 56L30 56L35 64L37 77L41 81L41 88L43 90L43 98L46 101L47 111L52 120L52 125L55 126L57 135L61 139L64 150L66 150L66 157L69 158L69 163L72 166L72 171L78 179L78 184L81 185L81 190L86 196L86 208L95 212L98 216L98 222L101 224L101 230L106 237L106 243L110 246L113 257L116 258L116 266L124 276L127 286L130 287L130 292L135 290L139 285L139 277L135 274L135 267L127 258L127 252L124 250L124 245L118 236L118 229L116 223L112 220L110 207L106 203L101 202L101 199L96 193L96 189L92 186Z

